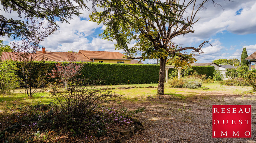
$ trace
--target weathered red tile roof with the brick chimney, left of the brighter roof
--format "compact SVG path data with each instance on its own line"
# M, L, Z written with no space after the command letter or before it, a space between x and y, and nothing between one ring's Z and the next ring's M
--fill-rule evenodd
M37 54L33 55L34 61L75 61L75 62L92 62L82 53L70 53L70 52L45 52L37 51ZM31 53L29 53L31 54ZM20 61L17 52L2 52L1 60L12 59L13 61Z

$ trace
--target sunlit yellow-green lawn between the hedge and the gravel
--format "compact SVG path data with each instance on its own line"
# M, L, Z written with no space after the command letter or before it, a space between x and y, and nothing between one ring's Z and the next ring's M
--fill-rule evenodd
M136 88L130 89L118 89L118 87L127 87L127 86L136 86ZM144 88L139 88L139 87ZM158 84L127 84L127 85L104 85L97 86L98 88L115 88L112 90L112 94L118 94L123 97L123 100L133 101L133 102L143 102L143 99L147 97L154 97L157 95L156 88L145 88L148 86L157 87ZM209 88L204 90L205 88ZM249 86L225 86L218 83L208 83L203 84L202 88L199 89L187 89L187 88L169 88L165 87L166 95L173 95L177 97L186 97L194 95L215 95L215 94L229 94L229 95L238 95L243 92L249 92L252 90L252 87ZM36 104L46 104L51 102L49 99L51 93L38 93L32 98L28 98L24 94L23 89L15 90L15 93L11 95L0 95L0 113L13 112L15 109L24 106L24 105L36 105Z

